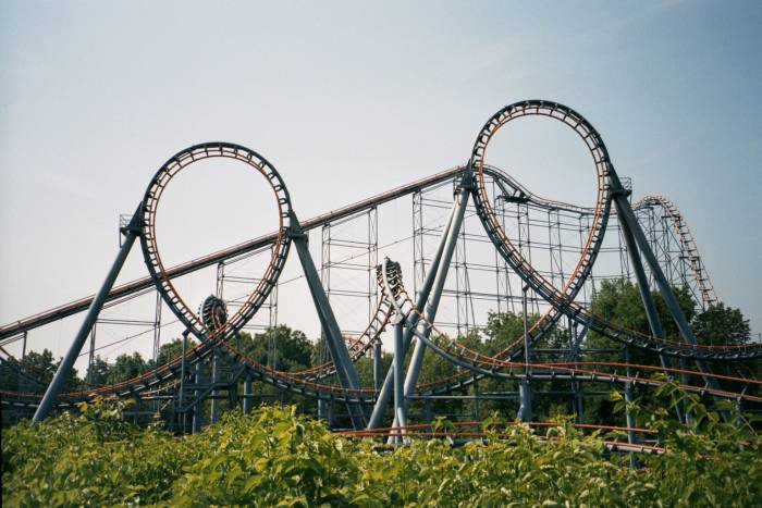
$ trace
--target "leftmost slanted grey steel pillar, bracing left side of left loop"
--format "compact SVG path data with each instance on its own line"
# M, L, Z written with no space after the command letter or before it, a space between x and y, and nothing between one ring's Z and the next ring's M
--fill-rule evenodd
M111 270L109 270L109 273L106 276L106 281L103 281L103 285L100 286L98 294L93 299L90 309L87 311L87 315L85 315L85 321L83 321L82 326L79 326L79 331L74 336L74 340L72 342L71 347L66 351L66 356L63 358L63 360L61 360L61 364L56 370L56 375L48 385L48 389L45 392L45 396L42 396L42 400L39 402L37 411L35 411L35 416L32 419L33 422L44 420L50 412L50 409L52 409L53 404L56 402L56 398L61 392L61 388L63 388L66 377L72 371L72 367L74 367L74 362L76 361L77 357L79 356L79 352L82 351L83 346L85 345L85 342L87 340L87 335L90 333L93 324L98 319L98 314L100 313L100 310L103 307L103 302L106 302L106 297L109 296L109 292L113 287L119 272L122 270L124 260L127 259L130 249L132 248L133 244L135 243L135 238L137 238L137 235L140 232L139 221L140 219L138 208L138 210L135 212L132 220L130 221L130 225L122 231L122 234L124 234L124 244L122 244L122 247L119 249L116 259L111 265Z

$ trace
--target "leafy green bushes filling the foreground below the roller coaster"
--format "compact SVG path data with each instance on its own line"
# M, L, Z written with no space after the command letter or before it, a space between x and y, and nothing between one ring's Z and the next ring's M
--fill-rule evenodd
M342 437L295 408L232 411L218 425L175 437L122 419L124 404L96 400L2 433L7 506L759 506L760 438L734 407L730 423L698 397L664 384L657 397L681 401L689 426L625 405L657 432L664 455L611 455L617 435L582 434L568 419L538 434L496 417L487 439L391 447ZM438 431L453 430L434 422ZM618 436L622 438L622 436Z

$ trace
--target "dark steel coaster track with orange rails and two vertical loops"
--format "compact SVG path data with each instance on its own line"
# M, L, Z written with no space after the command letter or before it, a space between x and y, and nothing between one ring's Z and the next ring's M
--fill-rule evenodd
M578 207L541 198L524 188L505 172L486 164L487 148L495 133L511 121L531 115L562 122L573 128L583 140L592 157L597 174L597 201L594 207ZM279 212L278 227L272 233L259 238L175 267L164 267L156 240L155 224L158 203L163 190L179 172L194 162L207 158L238 160L247 164L253 171L258 172L273 193ZM306 248L305 232L444 182L455 182L457 184L456 197L438 253L431 265L429 280L422 290L422 298L419 297L417 302L413 301L402 284L400 267L388 260L377 271L381 298L365 332L357 337L343 336L335 323L333 311L325 298L322 286L320 286L319 280L316 278L315 265ZM699 345L697 343L685 315L683 315L679 307L676 306L672 288L665 282L653 252L651 252L647 241L643 239L642 231L637 223L634 211L654 207L664 211L665 216L671 222L674 234L679 238L681 253L689 261L693 283L699 288L701 301L709 306L716 301L716 296L714 295L709 272L701 260L685 218L677 207L666 198L647 196L630 206L627 196L628 191L622 185L598 132L576 111L551 101L531 100L516 102L500 110L482 127L477 136L469 162L465 165L452 168L347 207L332 210L302 223L296 219L283 179L274 166L265 158L245 147L228 143L196 145L170 158L151 179L130 225L123 228L123 234L126 238L125 244L120 251L118 261L114 263L112 273L107 277L107 282L97 295L81 298L0 327L0 346L5 346L22 333L89 309L85 323L75 338L67 357L62 362L62 367L59 368L59 372L57 372L53 381L48 385L45 395L36 392L3 392L0 393L0 397L4 406L36 409L35 419L39 420L45 418L53 407L70 407L76 401L95 395L115 395L131 398L145 397L149 399L159 393L171 393L179 384L182 385L182 380L188 375L187 373L192 371L194 365L199 362L210 361L211 358L220 357L225 358L229 364L238 365L238 379L245 375L281 389L319 400L345 402L353 426L356 430L382 428L382 416L386 404L392 397L392 389L394 389L395 411L394 424L391 429L398 430L405 425L406 411L410 400L414 398L452 394L484 377L514 380L523 384L528 383L529 380L550 380L570 383L609 383L625 387L637 385L657 387L664 381L650 377L648 374L651 372L663 372L673 379L680 375L703 379L703 385L681 383L680 386L687 392L748 402L762 402L762 397L754 395L758 393L759 385L762 382L748 377L718 375L713 373L710 368L710 364L715 363L760 358L762 357L762 346L759 344L722 345L722 340L717 340L717 344L721 345L715 346ZM540 271L532 267L523 256L520 247L517 247L511 240L494 209L494 203L497 199L532 203L536 207L548 210L567 210L589 218L590 227L587 239L581 247L579 259L561 287L556 287ZM458 339L448 337L435 325L439 297L441 296L454 248L453 238L457 236L465 207L471 200L484 232L496 252L520 276L527 288L533 290L549 305L548 310L530 327L527 327L525 334L516 337L515 342L495 355L484 355L469 349L458 343ZM612 323L594 314L590 309L577 301L577 296L589 278L601 251L606 226L612 216L616 218L625 233L628 252L636 269L638 282L641 288L646 288L641 292L641 296L649 315L651 334L643 334ZM149 276L113 287L115 275L121 269L121 261L124 260L126 252L132 247L132 243L137 238L140 239ZM278 284L292 246L295 246L298 252L316 311L327 334L327 342L332 358L331 361L324 364L302 371L283 371L263 365L251 358L247 358L242 350L237 349L236 340L234 340ZM263 247L271 247L269 263L249 296L232 317L226 317L225 314L224 320L205 319L204 315L194 312L183 301L174 287L173 280L180 276ZM680 337L677 339L664 336L659 317L653 311L655 307L648 290L649 284L643 267L650 270L653 285L661 290L667 302L672 317L680 331ZM61 393L62 380L67 374L67 369L71 369L76 356L78 356L84 344L84 337L89 332L89 326L93 325L102 306L107 302L118 302L121 299L139 295L152 287L157 288L165 305L184 325L186 335L193 334L199 339L199 344L187 350L184 356L174 358L168 363L131 380L86 391ZM590 361L530 362L526 357L528 345L537 343L555 330L563 318L576 323L585 331L594 331L626 347L656 354L662 358L662 365L652 367ZM354 362L368 355L374 345L380 343L381 334L391 324L394 325L395 334L395 359L393 363L395 365L400 363L400 367L393 365L390 369L383 386L362 387L359 385ZM403 359L406 358L413 347L415 349L410 358L410 365L404 376L403 386ZM462 372L433 383L418 383L420 362L426 349L431 349L448 362L457 365L462 369ZM525 360L521 362L517 361L523 356L525 356ZM673 368L669 358L692 361L697 369ZM24 361L14 358L3 347L0 347L0 361L2 361L3 365L19 372L21 376L27 379L32 384L40 387L46 386L47 383L40 381L39 372L35 372ZM635 371L635 374L632 371ZM727 382L734 386L740 385L745 388L741 391L724 389L720 386L721 382Z

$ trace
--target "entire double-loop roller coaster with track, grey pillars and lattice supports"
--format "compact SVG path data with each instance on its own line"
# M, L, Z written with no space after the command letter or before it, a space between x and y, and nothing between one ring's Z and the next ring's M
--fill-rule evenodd
M509 122L529 116L561 122L583 141L595 170L593 207L542 198L506 172L487 163L487 150L495 134ZM274 198L278 224L267 235L169 267L162 260L157 241L156 219L162 194L188 166L214 158L238 161L265 179ZM414 208L418 207L420 215L426 196L435 191L444 194L445 198L437 202L448 213L435 227L425 227L419 220L418 236L414 239L417 252L414 294L403 282L400 262L386 258L380 263L369 261L359 270L355 265L355 271L362 277L370 277L374 287L367 292L369 312L364 330L347 333L347 329L339 324L331 289L325 284L325 272L340 268L341 263L327 263L323 259L319 271L309 250L308 233L317 228L330 232L334 225L365 216L384 203L409 196L414 197ZM429 422L432 401L458 397L476 402L517 400L517 413L508 417L539 424L532 419L532 400L545 396L537 389L543 382L569 387L564 394L579 424L582 424L583 399L589 396L582 388L585 385L615 387L631 399L636 387L656 388L674 381L686 392L759 409L762 381L745 375L742 369L734 365L762 357L762 345L730 344L724 337L716 337L712 345L699 344L674 287L688 288L695 303L703 309L715 303L717 297L686 219L665 197L647 196L632 203L630 195L631 190L617 175L603 139L593 126L575 110L544 100L515 102L492 115L477 135L466 164L304 222L297 219L280 173L261 154L231 143L192 146L171 157L150 181L137 209L120 230L119 253L96 295L0 327L2 365L14 372L19 385L25 387L0 394L3 412L13 412L17 418L34 414L34 421L39 421L51 412L73 408L95 396L115 396L136 400L136 407L149 408L146 413L161 414L179 432L195 432L205 423L206 400L211 400L211 421L219 418L220 399L228 399L231 407L241 404L244 411L249 411L256 399L253 383L257 382L317 400L318 414L322 418L328 418L327 408L345 409L345 421L352 428L348 432L356 435L390 438L403 432L413 433L420 429L420 421ZM548 218L548 239L536 239L532 244L532 227L544 216ZM469 221L478 221L480 231L467 233ZM618 246L604 243L604 237L612 234L617 235ZM439 237L435 249L428 255L421 241L426 235ZM137 239L148 275L114 285ZM487 245L494 255L492 265L476 262L469 265L465 249L469 243L477 241L482 249ZM330 247L330 240L328 245ZM323 248L325 246L324 241ZM271 305L283 283L281 275L292 247L296 249L300 276L307 282L329 354L327 361L303 370L281 370L274 364L263 364L247 357L239 347L242 331ZM377 255L378 245L367 250ZM572 261L570 253L574 255ZM537 261L540 255L545 256L544 267ZM611 277L630 278L640 288L650 333L630 330L591 310L597 263L606 255L616 257L619 264L619 270L614 270ZM226 263L253 256L265 257L265 268L257 277L239 281L248 283L248 295L244 298L224 298L220 288L202 302L186 301L181 296L176 282L183 276L214 267L220 271ZM368 259L372 257L368 255ZM468 274L480 269L490 271L490 276L496 278L495 292L475 290ZM521 289L515 290L517 286ZM665 334L652 288L661 294L679 336ZM93 357L96 349L94 326L101 311L153 290L182 325L182 354L126 381L66 391L66 379L83 355L88 337L91 337ZM457 300L457 317L451 321L439 315L440 303L447 298ZM516 305L521 309L524 332L497 352L483 352L464 339L464 331L479 331L474 301L480 298L482 307L490 309L500 310L501 306L513 309ZM157 299L157 306L160 309L162 301ZM198 308L198 312L194 308ZM528 320L530 310L539 314L531 323ZM25 362L23 354L17 358L10 352L11 347L22 340L26 350L29 332L81 313L85 313L82 325L49 383ZM472 317L470 322L468 315ZM457 333L452 333L453 327ZM560 330L566 337L563 347L553 350L540 347L543 339L558 336ZM585 338L591 333L605 337L613 350L625 358L622 361L582 358ZM195 346L186 347L188 337L195 337ZM388 339L384 342L383 337ZM382 344L390 343L392 364L384 373ZM629 352L636 350L659 358L659 365L630 362ZM427 354L452 363L457 373L434 382L419 382ZM364 357L373 361L372 386L362 385L356 369L356 362ZM737 374L713 372L717 368ZM205 377L207 371L211 372L210 379ZM655 373L664 375L653 376ZM480 381L488 379L516 386L517 393L480 393ZM238 393L241 384L243 394ZM425 405L426 414L411 412L411 406L418 402ZM678 414L678 418L686 417ZM419 422L414 423L414 420ZM624 429L634 431L629 419L626 423ZM629 437L631 446L635 444L632 432Z

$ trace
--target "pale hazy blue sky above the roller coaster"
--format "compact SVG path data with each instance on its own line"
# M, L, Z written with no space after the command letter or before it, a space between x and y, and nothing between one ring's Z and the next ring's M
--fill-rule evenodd
M636 197L680 207L760 332L760 54L758 1L0 0L0 321L94 293L118 215L192 144L260 151L306 219L464 162L494 111L543 98L592 122ZM587 202L561 153L512 174Z

